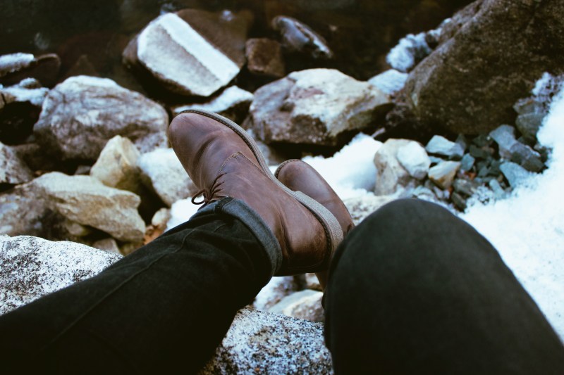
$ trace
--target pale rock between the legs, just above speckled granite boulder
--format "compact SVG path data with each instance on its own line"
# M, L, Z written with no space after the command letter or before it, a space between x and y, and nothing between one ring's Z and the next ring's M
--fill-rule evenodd
M311 322L324 322L325 312L321 306L321 298L323 298L322 292L305 289L282 298L269 309L269 312Z

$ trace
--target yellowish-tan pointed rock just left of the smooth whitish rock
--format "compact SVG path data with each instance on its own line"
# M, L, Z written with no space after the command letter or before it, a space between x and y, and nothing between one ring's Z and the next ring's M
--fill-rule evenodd
M129 139L116 135L102 149L98 160L90 169L90 176L99 179L106 186L139 193L139 157L139 151Z

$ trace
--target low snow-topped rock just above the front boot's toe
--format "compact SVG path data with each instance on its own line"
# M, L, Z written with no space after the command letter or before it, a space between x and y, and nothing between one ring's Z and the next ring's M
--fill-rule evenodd
M228 119L234 122L241 122L247 115L252 98L251 92L240 89L237 86L230 86L207 103L178 106L173 108L173 113L178 115L183 110L202 109L228 117Z

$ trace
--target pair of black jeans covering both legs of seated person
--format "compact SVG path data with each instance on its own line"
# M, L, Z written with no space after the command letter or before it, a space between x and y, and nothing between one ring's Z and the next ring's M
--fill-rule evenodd
M208 210L0 317L1 368L197 371L274 272L248 222ZM337 373L564 374L562 343L496 250L431 203L396 201L349 234L326 314Z

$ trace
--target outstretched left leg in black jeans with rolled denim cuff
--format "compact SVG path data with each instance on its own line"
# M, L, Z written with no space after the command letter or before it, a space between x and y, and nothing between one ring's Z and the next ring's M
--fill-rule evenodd
M245 205L231 198L218 201L97 277L0 317L3 371L191 374L200 369L235 312L275 271L276 254L264 246L279 251L268 245L276 239L262 220L238 214L237 208Z

